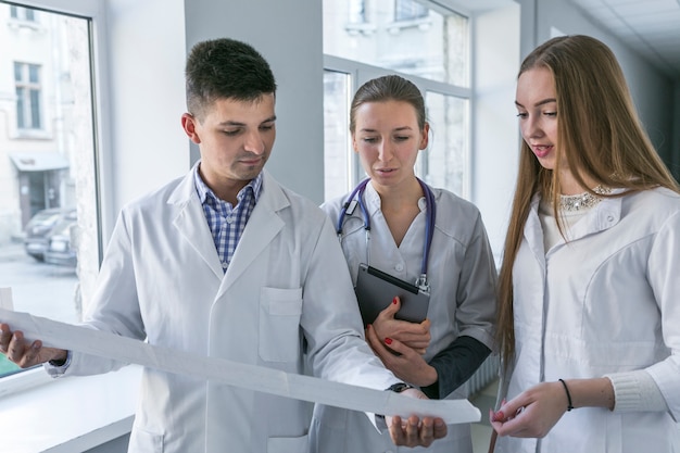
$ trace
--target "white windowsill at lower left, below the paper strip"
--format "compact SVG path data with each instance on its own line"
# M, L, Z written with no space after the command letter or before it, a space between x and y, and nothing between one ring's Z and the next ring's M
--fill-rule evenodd
M37 370L45 373L43 370ZM73 453L130 431L141 367L51 379L0 398L2 451Z

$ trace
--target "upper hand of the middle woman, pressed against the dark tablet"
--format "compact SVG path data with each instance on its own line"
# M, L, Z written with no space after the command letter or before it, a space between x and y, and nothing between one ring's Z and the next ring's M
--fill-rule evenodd
M391 338L412 348L418 354L425 354L425 350L430 344L430 320L423 323L410 323L407 320L394 319L394 315L401 307L399 298L394 298L392 303L385 309L373 322L373 328L379 338Z

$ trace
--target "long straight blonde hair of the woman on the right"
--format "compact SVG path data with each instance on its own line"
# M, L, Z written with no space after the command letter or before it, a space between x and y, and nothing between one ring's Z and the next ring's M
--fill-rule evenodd
M624 73L607 46L582 35L553 38L525 59L518 76L538 67L549 70L555 81L556 161L554 169L543 168L522 141L499 277L498 341L505 366L515 353L513 264L534 193L553 201L562 230L556 207L559 168L566 165L582 187L588 188L588 179L625 189L606 197L655 187L680 192L640 123Z

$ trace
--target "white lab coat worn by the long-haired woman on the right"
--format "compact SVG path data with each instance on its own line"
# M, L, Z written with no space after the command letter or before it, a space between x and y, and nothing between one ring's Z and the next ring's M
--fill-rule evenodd
M516 360L505 397L646 369L668 411L576 408L544 439L499 438L496 453L680 452L680 197L655 189L605 199L574 225L571 242L547 253L538 204L514 265Z

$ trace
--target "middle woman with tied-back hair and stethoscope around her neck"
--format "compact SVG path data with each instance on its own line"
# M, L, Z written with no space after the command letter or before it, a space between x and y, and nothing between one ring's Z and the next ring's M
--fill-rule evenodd
M322 207L337 224L355 285L364 263L429 289L421 323L395 319L400 300L385 294L389 306L366 329L375 353L429 398L466 398L462 385L493 344L496 270L477 207L415 176L428 143L425 116L420 91L403 77L364 84L352 101L350 131L368 179ZM395 450L364 414L331 406L315 407L311 443L324 453ZM469 425L449 426L427 451L471 453Z

